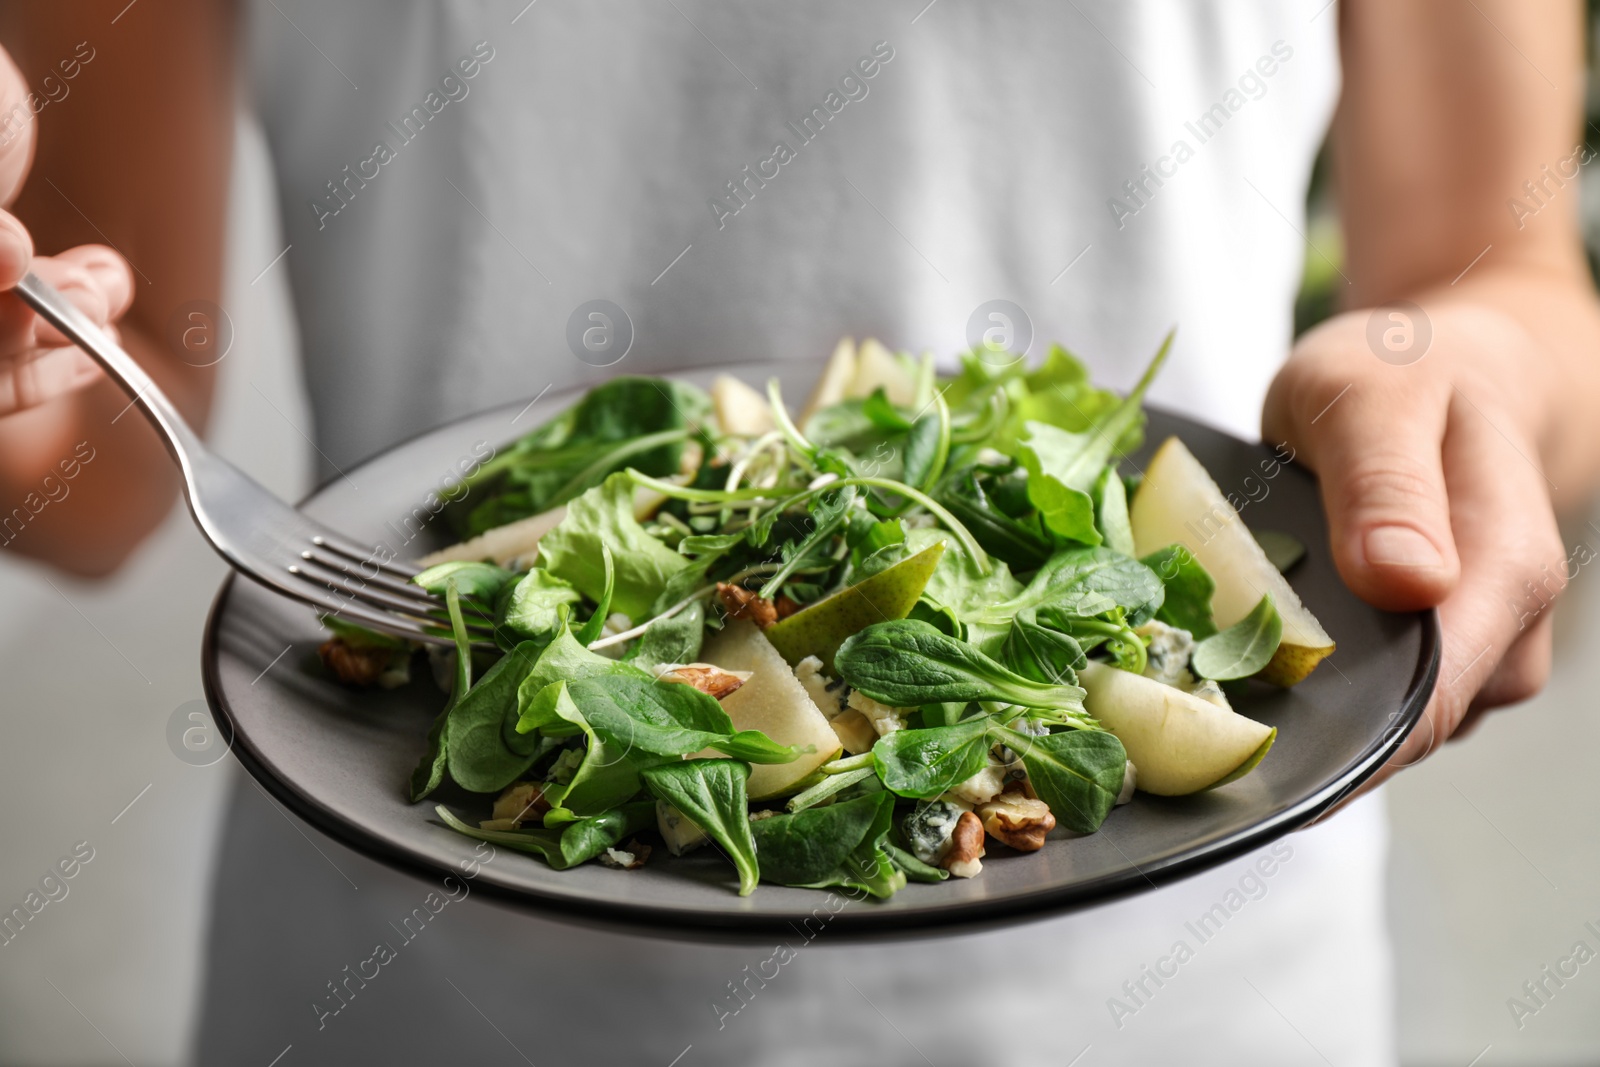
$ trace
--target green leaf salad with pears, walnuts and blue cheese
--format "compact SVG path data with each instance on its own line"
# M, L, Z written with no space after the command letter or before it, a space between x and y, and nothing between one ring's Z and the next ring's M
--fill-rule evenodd
M1182 442L1126 461L1170 347L1126 397L1059 346L946 376L875 341L798 416L776 381L590 389L451 493L410 798L558 870L709 846L739 894L890 897L1248 774L1277 731L1230 693L1334 645ZM341 680L410 680L419 646L323 622Z

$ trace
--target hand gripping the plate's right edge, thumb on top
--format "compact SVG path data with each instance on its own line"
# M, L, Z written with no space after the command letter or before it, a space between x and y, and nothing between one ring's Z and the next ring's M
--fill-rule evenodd
M1392 611L1438 608L1443 659L1426 721L1371 784L1477 712L1542 688L1546 608L1584 558L1568 561L1542 458L1573 416L1562 402L1573 384L1493 296L1480 299L1498 285L1485 282L1422 296L1421 310L1323 323L1294 347L1262 414L1266 438L1286 440L1322 480L1350 589Z

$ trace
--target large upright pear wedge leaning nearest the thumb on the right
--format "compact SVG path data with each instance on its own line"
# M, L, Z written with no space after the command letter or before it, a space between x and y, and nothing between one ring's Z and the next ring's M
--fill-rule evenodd
M1181 544L1210 571L1216 581L1211 614L1218 629L1234 625L1261 603L1262 593L1272 593L1283 616L1283 641L1261 669L1261 678L1294 685L1333 651L1333 638L1317 616L1294 595L1222 490L1176 437L1166 438L1146 466L1128 518L1139 558Z

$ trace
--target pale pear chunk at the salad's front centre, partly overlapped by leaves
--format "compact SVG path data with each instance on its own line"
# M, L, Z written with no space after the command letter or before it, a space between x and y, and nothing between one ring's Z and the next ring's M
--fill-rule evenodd
M838 755L838 734L795 672L752 622L733 619L701 649L706 662L723 670L749 670L749 680L722 697L734 729L760 729L784 745L797 745L792 763L757 763L744 789L752 800L774 797ZM722 755L707 749L698 757Z

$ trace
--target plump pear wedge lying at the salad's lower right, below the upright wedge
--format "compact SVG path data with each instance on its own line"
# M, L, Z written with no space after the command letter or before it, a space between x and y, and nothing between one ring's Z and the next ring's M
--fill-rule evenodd
M1109 664L1091 662L1078 672L1078 685L1088 713L1128 750L1136 787L1158 797L1243 777L1278 736L1272 726Z

